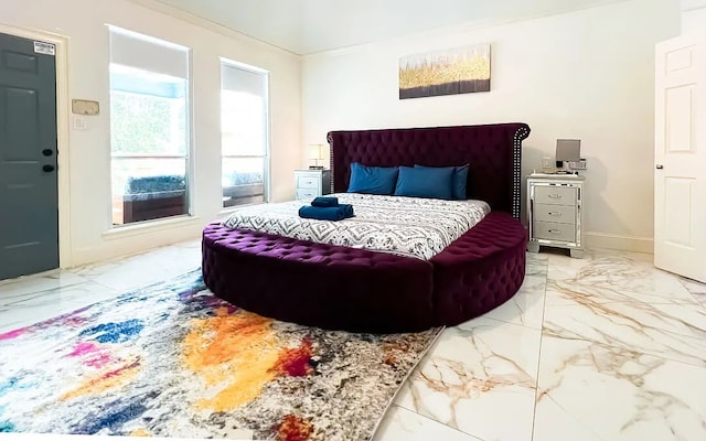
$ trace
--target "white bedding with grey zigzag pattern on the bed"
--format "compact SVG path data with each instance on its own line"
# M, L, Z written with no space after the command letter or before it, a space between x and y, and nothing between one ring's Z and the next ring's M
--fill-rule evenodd
M338 193L352 204L355 217L313 220L299 217L310 201L261 204L240 208L223 224L320 244L366 248L428 260L478 224L489 212L483 201Z

